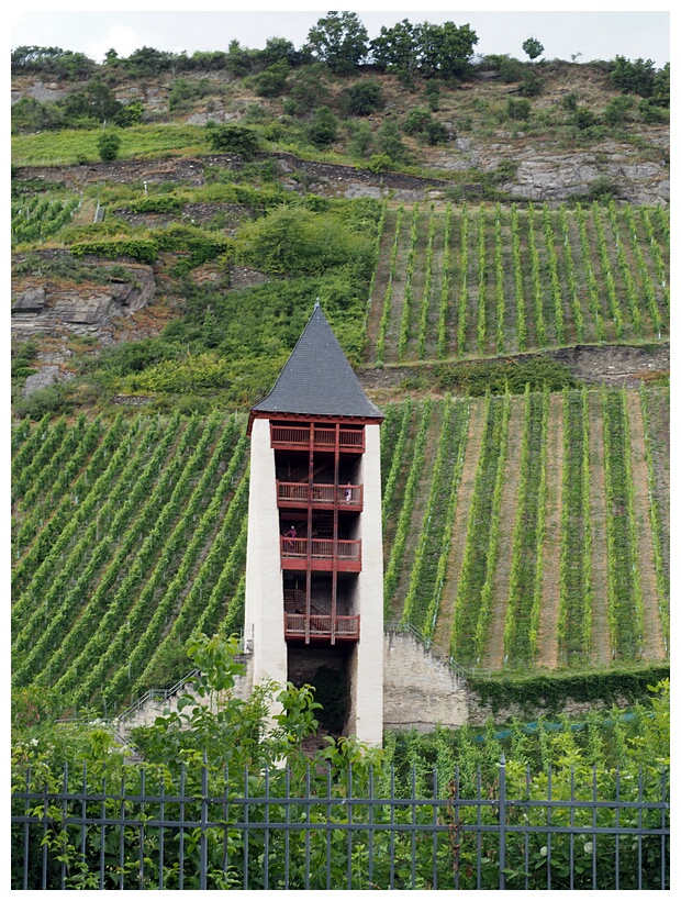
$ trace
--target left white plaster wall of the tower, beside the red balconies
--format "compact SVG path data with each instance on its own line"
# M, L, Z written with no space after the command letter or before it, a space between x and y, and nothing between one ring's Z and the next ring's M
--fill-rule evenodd
M283 587L275 452L269 421L256 419L250 435L250 486L246 547L244 639L253 639L253 685L287 682Z

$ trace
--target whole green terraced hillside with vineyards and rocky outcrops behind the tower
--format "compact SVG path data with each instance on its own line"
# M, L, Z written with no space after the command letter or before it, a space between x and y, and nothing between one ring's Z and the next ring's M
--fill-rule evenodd
M478 672L669 658L669 69L467 41L15 51L16 689L120 709L238 631L245 413L317 298L386 413L386 618Z

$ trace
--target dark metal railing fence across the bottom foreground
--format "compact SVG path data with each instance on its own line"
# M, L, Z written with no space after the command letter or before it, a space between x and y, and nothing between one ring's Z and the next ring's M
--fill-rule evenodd
M12 888L669 888L666 772L511 779L502 759L491 785L434 771L421 797L415 772L405 791L394 769L234 777L159 767L96 788L97 774L65 768L49 788L27 772L12 793Z

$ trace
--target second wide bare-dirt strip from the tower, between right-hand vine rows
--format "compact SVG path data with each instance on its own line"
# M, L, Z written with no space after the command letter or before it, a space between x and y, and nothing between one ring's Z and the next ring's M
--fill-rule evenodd
M509 605L509 586L511 582L511 564L513 561L513 533L518 502L521 480L521 452L523 445L523 408L521 398L511 408L509 421L509 444L504 471L504 487L501 499L499 530L499 549L496 570L492 585L492 610L490 625L484 644L483 669L501 669L504 659L504 625Z

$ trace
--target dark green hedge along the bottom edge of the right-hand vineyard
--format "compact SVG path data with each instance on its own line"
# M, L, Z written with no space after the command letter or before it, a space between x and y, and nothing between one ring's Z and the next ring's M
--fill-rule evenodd
M493 712L510 704L525 711L546 708L557 712L569 701L610 705L625 699L636 703L649 696L648 686L662 679L669 679L668 664L552 676L472 678L468 685L481 703L492 705Z

